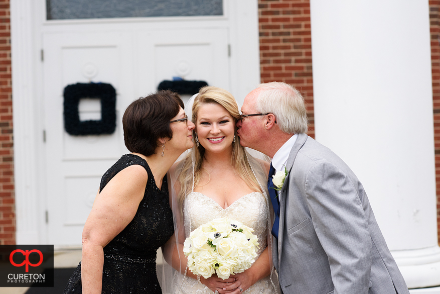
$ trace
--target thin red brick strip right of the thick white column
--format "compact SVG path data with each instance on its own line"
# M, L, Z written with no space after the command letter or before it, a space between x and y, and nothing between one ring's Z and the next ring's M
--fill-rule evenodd
M432 103L434 116L435 182L437 187L437 236L440 244L440 1L429 1L431 31Z

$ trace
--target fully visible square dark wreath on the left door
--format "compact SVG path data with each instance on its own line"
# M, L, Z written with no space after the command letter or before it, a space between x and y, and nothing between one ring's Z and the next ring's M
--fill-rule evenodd
M80 121L79 101L101 100L101 120ZM116 91L106 83L76 83L64 88L64 127L70 135L112 134L116 128Z

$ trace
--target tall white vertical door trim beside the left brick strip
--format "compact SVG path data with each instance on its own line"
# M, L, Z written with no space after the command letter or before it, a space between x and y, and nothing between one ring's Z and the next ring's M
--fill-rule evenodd
M41 3L41 1L39 2ZM46 244L44 233L45 197L41 197L44 161L39 145L38 89L41 87L40 38L35 34L36 15L43 6L33 0L11 1L11 47L14 120L14 178L16 201L16 243ZM36 6L35 6L36 5ZM38 78L37 78L38 77ZM39 141L41 140L41 141Z

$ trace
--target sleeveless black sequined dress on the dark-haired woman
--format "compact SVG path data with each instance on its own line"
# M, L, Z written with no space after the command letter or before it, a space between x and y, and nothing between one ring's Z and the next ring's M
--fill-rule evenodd
M165 176L162 190L144 159L123 155L102 176L101 191L111 178L127 166L138 164L148 173L145 194L133 220L104 247L102 293L162 293L156 275L156 252L174 233L173 214ZM69 279L64 293L82 293L81 262Z

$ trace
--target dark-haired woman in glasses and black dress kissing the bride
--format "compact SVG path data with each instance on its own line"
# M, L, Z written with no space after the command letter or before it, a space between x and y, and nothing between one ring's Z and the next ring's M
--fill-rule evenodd
M174 233L166 173L193 146L179 95L159 91L122 118L123 155L102 176L82 234L82 261L64 293L162 293L156 252Z

